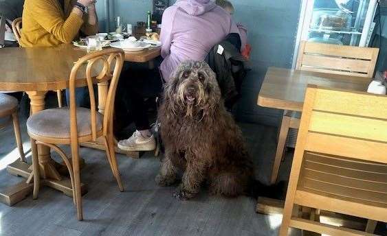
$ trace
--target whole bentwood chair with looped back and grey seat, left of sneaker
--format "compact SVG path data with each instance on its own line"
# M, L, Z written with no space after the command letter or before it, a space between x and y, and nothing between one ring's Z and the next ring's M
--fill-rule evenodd
M34 175L34 199L38 196L40 179L36 144L47 145L56 150L69 169L74 201L78 220L82 220L82 199L80 191L79 143L104 141L113 176L118 182L120 191L124 191L114 151L113 108L118 78L124 62L124 52L120 49L97 51L80 58L74 64L69 78L69 108L42 110L27 120L27 132L31 137L32 166ZM78 75L87 78L91 108L76 107L76 78ZM97 75L97 76L96 76ZM104 108L102 115L96 110L96 96L93 83L110 81L107 97L99 97L98 108ZM100 95L100 93L98 93ZM70 145L72 165L66 154L57 145Z

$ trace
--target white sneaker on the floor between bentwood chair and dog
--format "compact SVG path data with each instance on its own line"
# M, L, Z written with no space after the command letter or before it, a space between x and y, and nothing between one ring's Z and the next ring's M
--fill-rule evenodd
M132 152L152 151L156 149L156 140L153 134L149 138L144 138L140 131L136 130L129 139L119 141L118 148Z

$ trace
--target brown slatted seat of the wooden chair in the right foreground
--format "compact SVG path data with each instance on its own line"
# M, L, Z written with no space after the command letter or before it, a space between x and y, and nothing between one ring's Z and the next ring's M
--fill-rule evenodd
M387 220L385 164L305 152L298 189L307 194L308 199L304 196L304 199L295 202L296 204L302 204L303 201L309 201L312 196L318 195L318 198L340 199L360 204L360 211L366 211L366 207L384 209L384 220Z

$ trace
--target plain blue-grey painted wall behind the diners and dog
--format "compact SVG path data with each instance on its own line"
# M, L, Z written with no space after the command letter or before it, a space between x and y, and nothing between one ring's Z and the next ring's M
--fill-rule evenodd
M111 19L121 16L125 23L145 21L146 11L152 9L151 0L110 1ZM277 125L281 112L258 107L256 99L267 67L291 67L300 0L231 1L235 8L235 21L247 27L253 48L252 71L243 85L243 98L236 108L236 117L240 121ZM101 21L105 20L103 10L103 0L100 0L98 15Z

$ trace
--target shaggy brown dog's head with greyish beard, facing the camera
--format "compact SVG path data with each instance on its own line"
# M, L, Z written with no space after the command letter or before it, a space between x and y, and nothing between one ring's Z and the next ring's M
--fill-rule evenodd
M166 99L192 116L198 111L214 108L221 99L216 75L206 62L182 62L166 86Z

